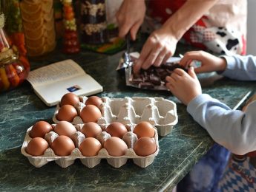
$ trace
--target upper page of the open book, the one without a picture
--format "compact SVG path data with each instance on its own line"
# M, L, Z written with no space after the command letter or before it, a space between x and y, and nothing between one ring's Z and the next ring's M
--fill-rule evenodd
M27 80L35 87L83 74L85 74L85 71L82 67L73 60L68 59L31 71Z

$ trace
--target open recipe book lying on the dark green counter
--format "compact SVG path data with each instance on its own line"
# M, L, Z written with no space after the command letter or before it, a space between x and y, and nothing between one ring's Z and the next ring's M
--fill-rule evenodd
M68 92L88 96L103 90L96 80L71 59L35 69L29 73L27 80L47 106L56 105Z

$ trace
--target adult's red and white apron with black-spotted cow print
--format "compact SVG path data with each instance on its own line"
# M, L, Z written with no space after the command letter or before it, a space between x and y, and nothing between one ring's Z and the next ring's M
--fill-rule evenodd
M150 10L149 14L151 18L154 18L156 21L159 21L160 24L164 24L165 21L168 18L170 18L170 16L174 14L177 10L179 10L180 7L182 7L185 2L186 0L150 0L148 1L148 7ZM226 3L225 0L218 2L216 7L214 7L212 11L209 11L208 15L206 14L205 16L200 18L183 35L183 39L185 39L185 41L188 42L188 44L191 44L195 47L199 47L200 49L209 49L218 54L245 55L246 33L241 32L238 29L241 27L237 27L237 29L235 29L233 27L222 26L221 24L223 21L212 21L213 18L217 18L216 16L213 16L214 14L217 14L217 6L221 6L223 4L224 6L228 7L228 10L231 10L232 12L229 13L229 17L233 16L235 18L233 12L237 9L237 7L239 7L240 3L243 2L237 1L234 4ZM244 4L246 3L243 3L243 5ZM241 12L243 12L243 9L241 9ZM220 20L223 20L223 18L220 18ZM231 22L233 20L231 19Z

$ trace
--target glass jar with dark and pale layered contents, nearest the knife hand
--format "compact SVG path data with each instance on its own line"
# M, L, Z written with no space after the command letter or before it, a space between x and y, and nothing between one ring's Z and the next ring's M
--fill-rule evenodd
M108 41L105 0L81 1L82 41L104 44Z

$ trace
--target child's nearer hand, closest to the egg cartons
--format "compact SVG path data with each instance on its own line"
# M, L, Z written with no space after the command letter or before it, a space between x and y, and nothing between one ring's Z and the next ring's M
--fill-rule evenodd
M188 68L188 73L183 69L174 69L166 80L167 88L185 105L188 105L197 95L202 94L202 88L193 67Z

